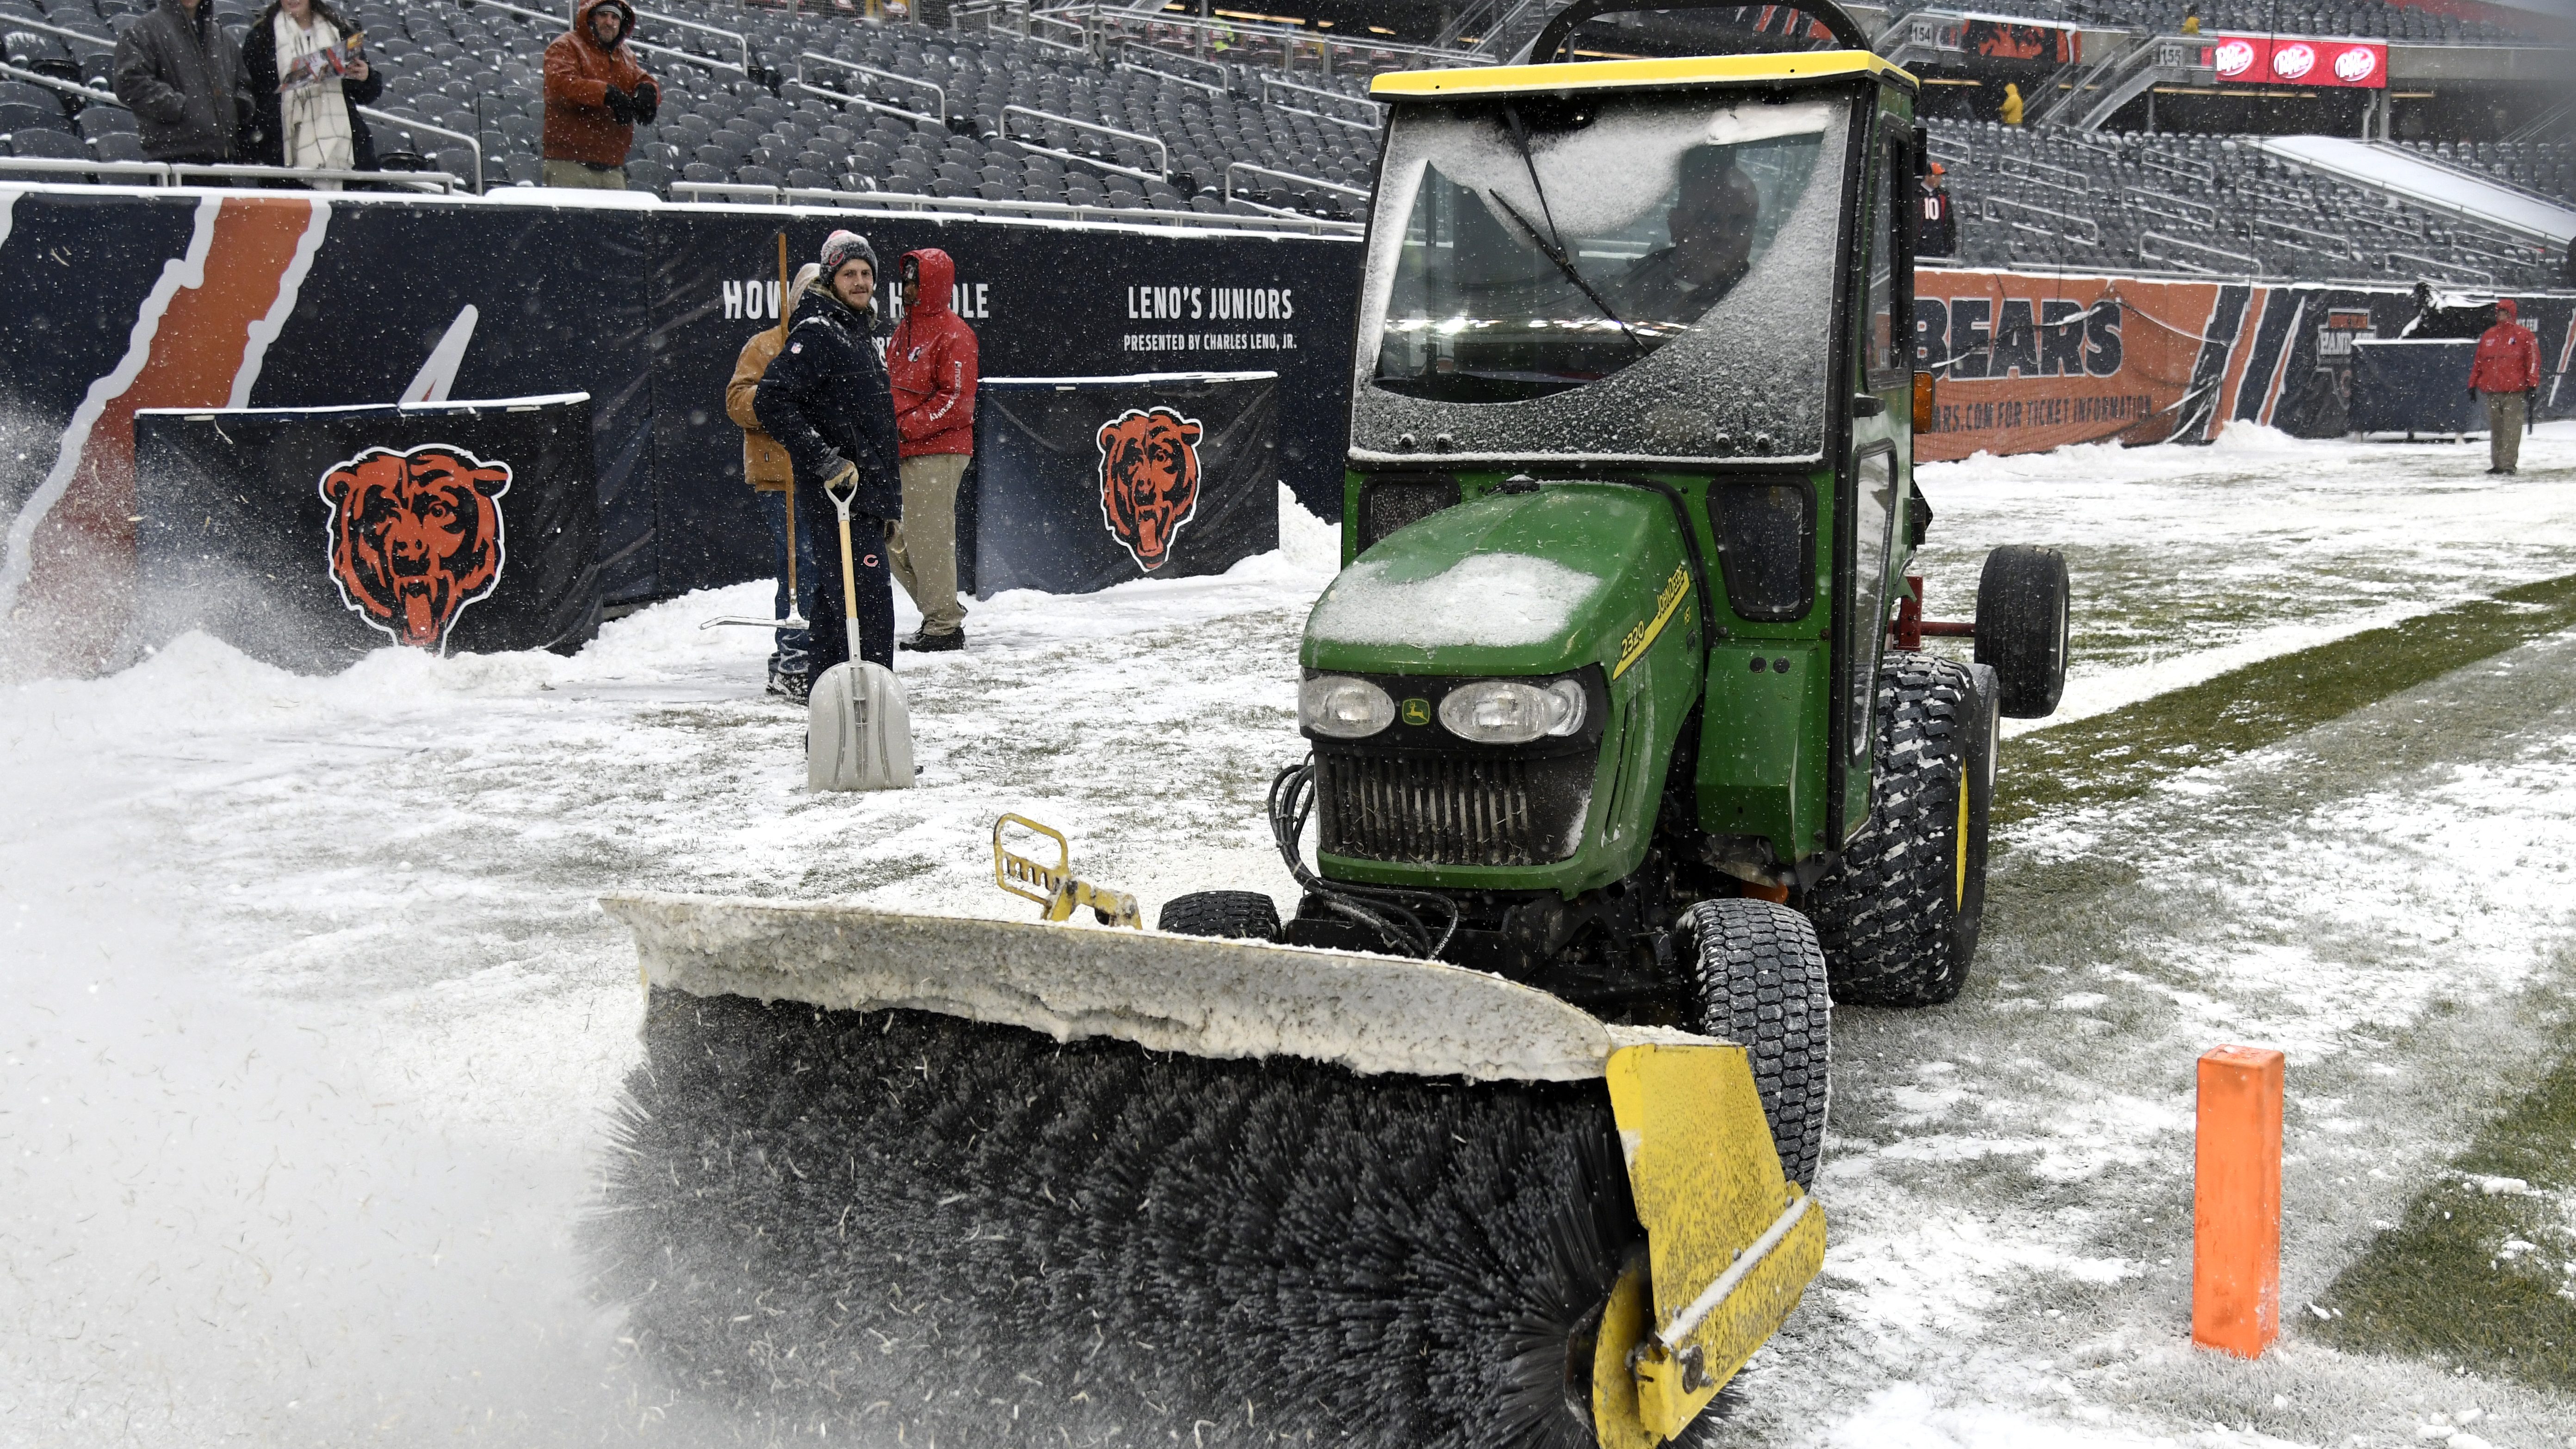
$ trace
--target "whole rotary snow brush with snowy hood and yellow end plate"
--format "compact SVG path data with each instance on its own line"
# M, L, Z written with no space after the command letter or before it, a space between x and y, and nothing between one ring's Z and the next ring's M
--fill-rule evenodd
M1692 1441L1824 1258L1734 1044L1437 962L603 905L647 1018L598 1292L781 1434Z

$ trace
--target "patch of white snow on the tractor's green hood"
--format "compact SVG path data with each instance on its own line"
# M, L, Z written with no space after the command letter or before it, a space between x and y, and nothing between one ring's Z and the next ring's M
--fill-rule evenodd
M1476 554L1430 578L1360 559L1324 590L1309 637L1350 645L1543 645L1566 632L1602 580L1530 554Z

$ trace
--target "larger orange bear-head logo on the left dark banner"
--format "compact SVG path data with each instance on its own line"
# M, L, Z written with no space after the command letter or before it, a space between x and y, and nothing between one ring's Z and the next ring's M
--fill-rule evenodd
M510 464L448 443L366 449L322 474L340 603L397 645L448 647L466 603L500 588Z

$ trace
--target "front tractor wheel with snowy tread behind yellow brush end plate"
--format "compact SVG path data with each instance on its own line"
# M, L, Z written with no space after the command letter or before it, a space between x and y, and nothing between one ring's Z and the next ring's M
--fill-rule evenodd
M1780 1171L1814 1186L1834 1060L1834 998L1816 928L1767 900L1703 900L1680 931L1692 1031L1744 1047Z

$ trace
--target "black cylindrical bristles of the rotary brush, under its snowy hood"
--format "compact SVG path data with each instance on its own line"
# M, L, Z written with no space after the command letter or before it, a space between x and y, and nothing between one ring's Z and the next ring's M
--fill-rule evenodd
M590 1248L698 1395L886 1444L1595 1441L1643 1253L1600 1083L675 990L644 1042Z

